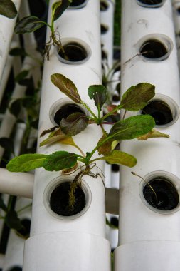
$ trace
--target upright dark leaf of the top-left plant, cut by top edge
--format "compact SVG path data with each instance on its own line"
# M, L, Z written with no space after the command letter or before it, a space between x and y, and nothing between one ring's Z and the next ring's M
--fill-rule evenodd
M52 22L57 20L68 8L72 0L60 0L52 5Z

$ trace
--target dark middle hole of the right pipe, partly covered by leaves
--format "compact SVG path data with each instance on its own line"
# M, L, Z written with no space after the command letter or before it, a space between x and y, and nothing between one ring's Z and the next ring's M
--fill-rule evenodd
M156 125L164 125L173 121L169 106L163 101L154 100L142 109L142 114L149 114L154 118Z

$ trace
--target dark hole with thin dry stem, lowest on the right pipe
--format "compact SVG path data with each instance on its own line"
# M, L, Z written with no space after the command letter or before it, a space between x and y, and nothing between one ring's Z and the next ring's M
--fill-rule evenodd
M149 185L145 185L143 189L144 198L152 207L159 210L172 210L179 203L179 195L174 185L166 178L156 177L149 181L152 185L157 197L155 196Z

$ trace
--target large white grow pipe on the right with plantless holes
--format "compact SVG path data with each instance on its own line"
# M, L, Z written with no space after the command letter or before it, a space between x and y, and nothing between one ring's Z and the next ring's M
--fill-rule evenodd
M133 170L147 182L157 183L160 179L161 185L169 183L179 198L180 123L177 103L180 102L180 86L171 1L159 1L161 6L152 6L152 1L149 1L149 6L143 2L122 0L121 90L123 94L137 83L154 84L155 102L160 101L171 110L171 121L164 125L160 121L155 128L168 133L170 138L125 140L121 143L121 150L134 155L137 165L133 169L120 168L120 230L119 247L115 250L115 271L177 271L180 266L179 201L169 210L161 206L159 210L157 203L152 207L144 194L147 183L131 173ZM152 42L155 48L165 48L166 53L158 57L156 53L152 55ZM150 54L147 53L149 46Z

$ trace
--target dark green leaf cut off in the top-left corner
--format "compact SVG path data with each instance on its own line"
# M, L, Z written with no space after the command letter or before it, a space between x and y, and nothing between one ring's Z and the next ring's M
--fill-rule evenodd
M1 0L0 1L0 15L4 15L9 19L16 17L18 12L16 11L16 6L11 0Z

